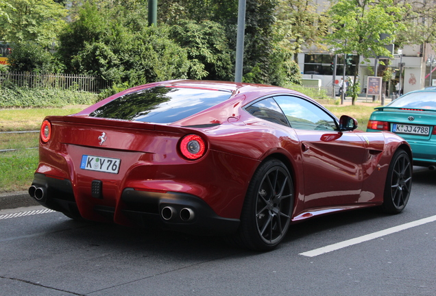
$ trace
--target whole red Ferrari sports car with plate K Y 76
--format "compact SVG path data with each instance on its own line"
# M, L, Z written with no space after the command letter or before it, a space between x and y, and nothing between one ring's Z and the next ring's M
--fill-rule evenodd
M406 206L409 145L355 128L286 88L146 84L47 116L29 194L73 219L230 234L271 249L292 221Z

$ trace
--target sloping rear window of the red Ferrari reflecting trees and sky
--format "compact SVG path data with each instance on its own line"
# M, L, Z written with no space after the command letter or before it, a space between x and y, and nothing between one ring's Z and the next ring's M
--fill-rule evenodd
M173 123L230 98L228 90L156 86L128 93L89 116L149 123Z

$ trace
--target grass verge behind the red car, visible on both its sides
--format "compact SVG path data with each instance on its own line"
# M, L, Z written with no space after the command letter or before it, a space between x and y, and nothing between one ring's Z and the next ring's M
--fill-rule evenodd
M67 115L77 113L86 106L44 109L5 109L0 110L0 131L39 130L47 115ZM359 130L366 130L367 121L374 110L373 106L326 106L340 117L349 115L359 121ZM0 152L0 193L27 190L38 166L39 134L0 134L0 150L19 149Z

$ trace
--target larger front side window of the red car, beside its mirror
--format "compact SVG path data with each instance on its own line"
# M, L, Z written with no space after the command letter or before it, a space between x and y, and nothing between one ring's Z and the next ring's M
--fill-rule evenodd
M330 114L305 99L293 96L274 97L283 110L291 127L299 130L337 130L335 119Z

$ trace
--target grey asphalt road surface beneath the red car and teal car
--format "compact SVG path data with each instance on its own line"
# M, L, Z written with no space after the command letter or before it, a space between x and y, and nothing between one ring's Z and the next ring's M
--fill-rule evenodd
M39 206L1 210L0 295L435 296L436 171L413 177L401 214L312 219L267 253L219 237L79 223Z

